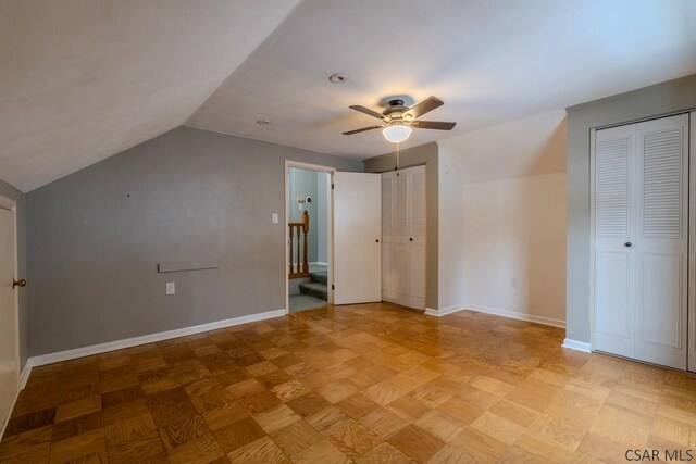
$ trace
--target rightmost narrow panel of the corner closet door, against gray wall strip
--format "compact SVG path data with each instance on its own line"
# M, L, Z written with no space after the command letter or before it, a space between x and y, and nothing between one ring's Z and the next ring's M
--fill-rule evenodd
M409 306L425 309L425 166L408 171Z

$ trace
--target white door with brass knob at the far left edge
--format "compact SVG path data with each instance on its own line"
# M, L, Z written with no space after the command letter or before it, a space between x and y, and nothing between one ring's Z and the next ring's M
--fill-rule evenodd
M0 434L17 394L20 360L15 290L16 241L14 212L0 205Z

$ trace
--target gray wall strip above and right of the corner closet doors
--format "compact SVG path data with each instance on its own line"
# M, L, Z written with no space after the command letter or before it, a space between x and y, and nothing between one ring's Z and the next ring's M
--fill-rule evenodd
M396 153L383 154L364 161L365 172L383 173L391 171L396 166ZM431 142L420 147L413 147L399 153L399 167L410 167L420 164L425 165L425 203L427 208L427 293L425 304L427 308L438 309L438 148Z

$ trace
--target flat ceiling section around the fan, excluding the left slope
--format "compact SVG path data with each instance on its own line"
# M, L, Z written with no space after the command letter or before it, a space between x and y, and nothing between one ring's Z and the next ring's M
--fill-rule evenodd
M304 0L186 124L362 159L394 147L343 136L377 122L350 104L442 98L425 118L457 127L422 145L696 73L695 24L693 0Z

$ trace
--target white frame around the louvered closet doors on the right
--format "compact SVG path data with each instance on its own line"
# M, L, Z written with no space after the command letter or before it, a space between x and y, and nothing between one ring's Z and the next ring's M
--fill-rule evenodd
M686 369L696 372L696 110L676 111L656 116L633 120L619 124L593 127L589 129L589 351L594 352L595 347L595 233L596 233L596 211L595 211L595 187L596 187L596 150L597 130L611 127L638 124L646 121L660 120L675 116L678 114L688 115L688 218L687 223L687 304L686 304ZM642 362L634 360L636 362Z

